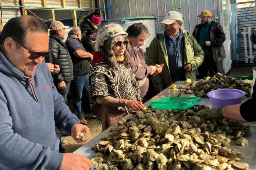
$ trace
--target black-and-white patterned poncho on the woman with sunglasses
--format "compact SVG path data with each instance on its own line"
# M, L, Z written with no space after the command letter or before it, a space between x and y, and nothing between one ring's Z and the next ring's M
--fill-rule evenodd
M106 62L96 63L89 75L90 106L96 104L96 96L111 96L117 99L142 101L135 75L124 64L117 65L114 70ZM133 111L131 108L118 107L126 114Z

